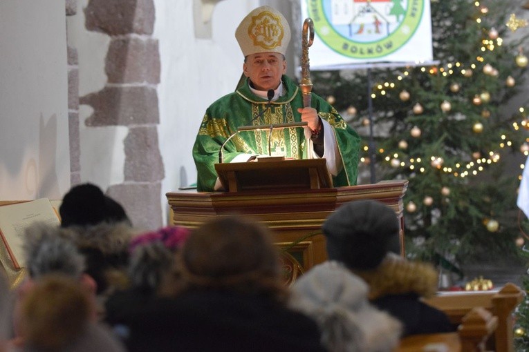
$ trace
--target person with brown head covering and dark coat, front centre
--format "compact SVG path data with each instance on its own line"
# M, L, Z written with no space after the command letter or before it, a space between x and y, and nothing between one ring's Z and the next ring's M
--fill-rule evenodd
M129 322L129 351L325 351L319 329L288 308L268 228L228 216L192 231L176 291Z

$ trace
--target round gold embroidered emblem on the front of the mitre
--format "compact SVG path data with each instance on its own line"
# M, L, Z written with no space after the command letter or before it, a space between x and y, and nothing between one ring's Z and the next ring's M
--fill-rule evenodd
M275 16L270 11L263 11L257 16L252 16L252 23L248 27L248 35L252 38L254 46L273 49L281 46L284 28L278 16Z

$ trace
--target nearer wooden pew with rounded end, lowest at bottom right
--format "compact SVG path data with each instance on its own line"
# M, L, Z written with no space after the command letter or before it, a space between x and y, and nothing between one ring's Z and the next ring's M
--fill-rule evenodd
M400 341L397 352L483 352L497 326L498 317L487 309L474 307L462 318L456 333L407 336Z

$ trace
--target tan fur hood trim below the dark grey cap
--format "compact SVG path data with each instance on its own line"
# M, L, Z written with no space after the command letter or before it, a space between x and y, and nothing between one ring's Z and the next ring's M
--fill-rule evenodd
M353 273L369 284L369 300L404 293L431 297L437 291L438 273L434 266L411 262L393 253L388 253L377 268Z

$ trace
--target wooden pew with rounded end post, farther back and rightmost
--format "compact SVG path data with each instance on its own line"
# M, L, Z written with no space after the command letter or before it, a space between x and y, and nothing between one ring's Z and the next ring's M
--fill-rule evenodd
M453 324L461 324L463 317L476 306L487 309L498 318L498 326L487 342L488 348L496 352L514 352L513 311L523 295L517 285L509 283L500 290L440 293L426 302L447 313ZM461 331L459 334L461 336Z

